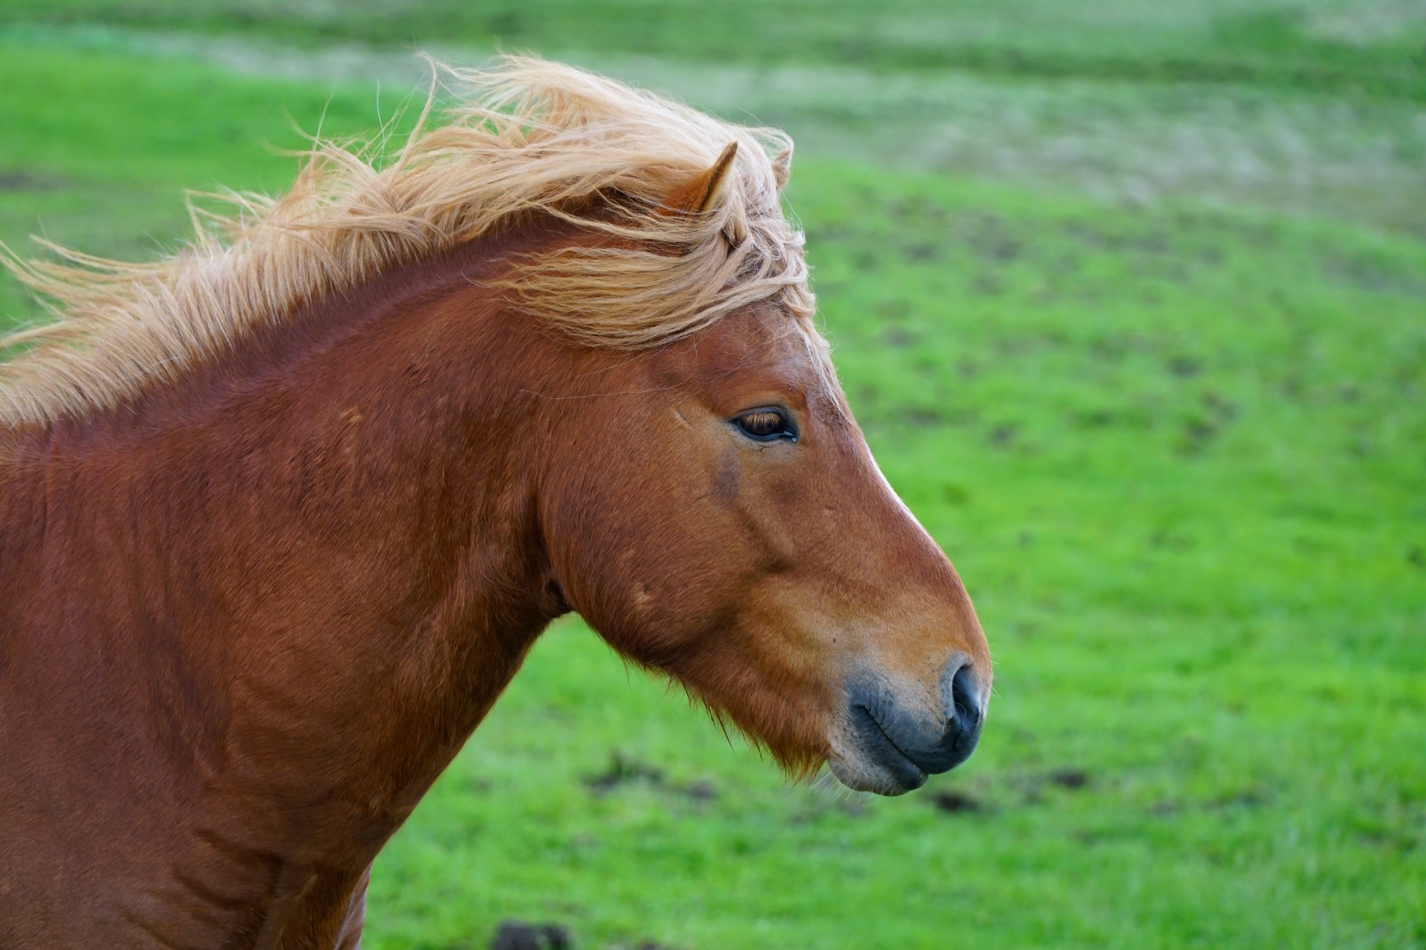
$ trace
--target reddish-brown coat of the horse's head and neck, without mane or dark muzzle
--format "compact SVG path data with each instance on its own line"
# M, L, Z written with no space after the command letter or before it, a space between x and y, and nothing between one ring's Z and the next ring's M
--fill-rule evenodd
M800 771L856 759L854 669L931 718L947 658L988 688L804 319L629 353L492 291L605 239L533 216L0 429L0 946L356 946L372 859L570 608ZM767 404L796 444L729 422Z

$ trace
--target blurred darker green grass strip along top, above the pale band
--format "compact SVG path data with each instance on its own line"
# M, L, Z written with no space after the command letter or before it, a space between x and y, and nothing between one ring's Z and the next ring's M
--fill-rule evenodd
M307 44L463 43L673 60L1261 81L1426 97L1426 17L1389 0L10 0L0 21L103 21Z

